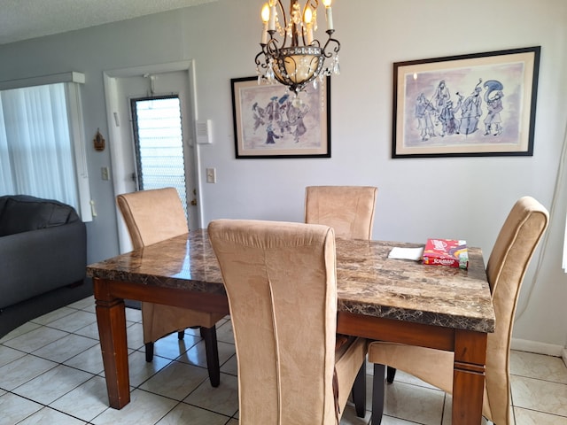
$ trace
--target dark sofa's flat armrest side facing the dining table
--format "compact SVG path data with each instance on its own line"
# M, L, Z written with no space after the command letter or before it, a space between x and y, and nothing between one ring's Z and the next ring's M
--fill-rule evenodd
M0 309L82 281L87 230L82 221L0 237Z

